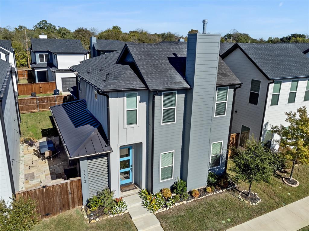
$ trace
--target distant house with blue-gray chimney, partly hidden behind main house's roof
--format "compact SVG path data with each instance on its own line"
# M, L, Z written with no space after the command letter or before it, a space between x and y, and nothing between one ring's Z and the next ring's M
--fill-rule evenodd
M119 40L96 39L96 37L91 37L89 46L90 56L94 58L113 51L121 51L124 46L125 42Z

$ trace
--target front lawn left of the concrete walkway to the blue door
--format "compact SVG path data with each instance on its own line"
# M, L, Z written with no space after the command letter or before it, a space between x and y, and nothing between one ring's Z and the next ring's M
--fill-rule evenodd
M33 231L136 231L129 214L107 218L92 224L85 224L83 214L79 209L61 213L56 217L43 220Z

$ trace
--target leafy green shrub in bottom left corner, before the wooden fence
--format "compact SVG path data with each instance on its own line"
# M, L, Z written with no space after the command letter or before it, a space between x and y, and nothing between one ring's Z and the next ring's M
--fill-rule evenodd
M0 200L0 230L28 231L40 222L39 214L36 213L35 200L30 197L18 200L12 198L8 205L2 198Z

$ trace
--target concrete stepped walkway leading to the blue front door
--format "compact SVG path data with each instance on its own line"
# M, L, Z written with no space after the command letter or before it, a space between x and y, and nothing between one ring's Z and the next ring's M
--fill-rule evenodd
M128 205L128 212L138 231L164 231L158 218L142 206L142 199L138 194L123 199Z

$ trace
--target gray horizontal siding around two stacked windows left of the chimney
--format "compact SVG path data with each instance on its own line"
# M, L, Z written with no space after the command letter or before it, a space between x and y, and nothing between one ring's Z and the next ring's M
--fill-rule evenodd
M175 179L180 178L185 92L186 90L177 91L175 123L162 124L162 97L164 91L155 96L153 193L159 192L161 188L170 188ZM151 140L149 145L151 146ZM175 151L173 178L160 182L160 155L163 152L170 151Z

